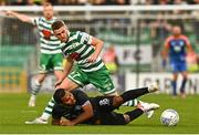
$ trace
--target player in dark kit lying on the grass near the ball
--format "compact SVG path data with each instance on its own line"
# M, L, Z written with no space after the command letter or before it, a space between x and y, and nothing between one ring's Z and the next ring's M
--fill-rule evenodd
M52 112L52 124L73 126L77 124L92 125L125 125L139 117L144 112L159 108L154 103L145 103L133 111L114 112L123 103L147 93L158 91L157 84L148 87L129 90L121 95L88 97L83 91L55 91L53 98L56 102Z

